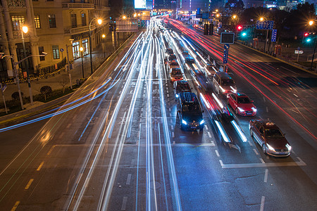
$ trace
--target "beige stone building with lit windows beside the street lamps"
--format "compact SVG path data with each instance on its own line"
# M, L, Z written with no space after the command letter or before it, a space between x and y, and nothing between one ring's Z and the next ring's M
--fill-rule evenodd
M25 58L24 37L27 56L32 55L30 74L65 60L67 49L70 60L80 58L80 47L84 55L89 54L89 31L92 49L102 42L102 34L110 36L108 0L1 0L0 10L0 51L13 56L15 62ZM22 26L27 26L27 33ZM39 57L42 52L47 56ZM13 65L8 57L0 63L3 79ZM20 68L25 69L23 63Z

